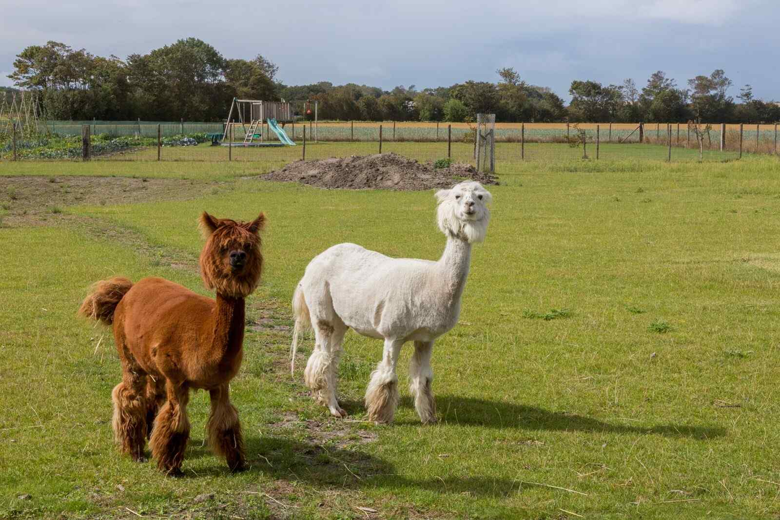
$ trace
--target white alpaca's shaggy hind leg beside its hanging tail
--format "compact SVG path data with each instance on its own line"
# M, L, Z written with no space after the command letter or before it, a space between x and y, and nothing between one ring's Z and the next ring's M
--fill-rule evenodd
M346 417L336 398L341 342L346 327L343 324L337 324L337 327L322 320L314 326L317 342L303 372L303 380L312 389L312 397L327 406L333 416Z

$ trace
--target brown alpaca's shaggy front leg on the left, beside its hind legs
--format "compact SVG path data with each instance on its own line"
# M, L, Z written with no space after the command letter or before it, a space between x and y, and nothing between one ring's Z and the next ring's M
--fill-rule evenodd
M190 438L190 419L187 418L187 401L190 389L186 384L165 382L168 401L154 419L149 446L161 471L170 476L182 474L182 462L187 440Z

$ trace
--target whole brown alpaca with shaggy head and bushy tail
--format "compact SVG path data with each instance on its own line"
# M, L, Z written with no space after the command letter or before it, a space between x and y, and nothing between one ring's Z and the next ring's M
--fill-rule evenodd
M244 299L260 281L263 256L259 232L265 221L218 219L204 212L206 245L200 276L215 289L216 301L162 278L98 281L79 314L113 324L122 363L122 383L112 392L114 436L135 460L149 446L158 467L180 475L190 421L190 389L211 396L207 435L211 449L233 471L244 468L243 439L228 383L243 355Z

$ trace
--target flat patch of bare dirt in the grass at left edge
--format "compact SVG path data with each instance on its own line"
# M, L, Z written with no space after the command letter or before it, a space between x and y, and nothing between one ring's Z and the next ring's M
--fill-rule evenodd
M186 200L203 196L211 184L186 179L131 177L0 177L0 214L11 227L50 225L62 218L64 207Z

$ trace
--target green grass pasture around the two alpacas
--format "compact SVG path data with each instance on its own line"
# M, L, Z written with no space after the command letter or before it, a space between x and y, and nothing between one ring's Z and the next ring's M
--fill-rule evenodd
M315 405L288 361L308 261L345 241L438 257L432 192L250 177L272 161L0 163L0 518L780 515L780 162L502 157L461 321L434 347L436 426L403 391L392 426L363 422L379 341L346 338L349 421ZM24 191L20 175L52 180ZM78 198L74 175L108 177L104 192ZM164 200L144 196L163 186ZM66 191L80 205L58 202ZM231 385L251 468L232 475L203 446L201 392L186 476L168 479L112 446L112 336L75 312L113 274L208 294L204 209L268 216ZM407 346L402 380L408 359Z

